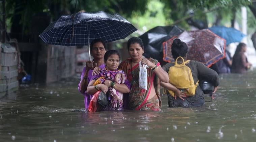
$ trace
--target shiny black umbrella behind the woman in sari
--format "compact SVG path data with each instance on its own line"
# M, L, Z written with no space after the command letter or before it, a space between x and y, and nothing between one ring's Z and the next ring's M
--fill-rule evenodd
M145 32L140 38L144 44L145 53L143 56L146 58L157 59L162 65L163 61L163 42L173 36L177 36L183 32L177 26L157 26Z

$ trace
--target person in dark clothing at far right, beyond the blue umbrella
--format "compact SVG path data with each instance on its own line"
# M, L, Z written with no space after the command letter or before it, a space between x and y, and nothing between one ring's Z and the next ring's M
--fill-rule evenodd
M239 43L237 45L231 66L232 73L246 73L251 68L252 64L248 62L245 56L246 49L247 46L245 43Z

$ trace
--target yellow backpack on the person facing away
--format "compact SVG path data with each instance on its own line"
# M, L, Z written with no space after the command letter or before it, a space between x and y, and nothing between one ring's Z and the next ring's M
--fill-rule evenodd
M181 58L183 63L178 64L178 59ZM198 85L198 80L196 84L194 84L194 79L191 73L191 69L185 65L185 63L188 63L190 60L187 60L184 62L184 59L182 57L178 57L175 61L174 66L169 68L169 83L177 87L183 92L186 92L187 96L194 96L196 93L196 87ZM186 91L185 91L186 90ZM174 92L171 90L168 90L170 95L174 97Z

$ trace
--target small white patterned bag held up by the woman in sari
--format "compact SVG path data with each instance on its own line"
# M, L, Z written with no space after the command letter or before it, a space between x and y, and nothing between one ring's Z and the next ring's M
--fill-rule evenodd
M139 66L139 87L147 90L147 65L142 65L140 61Z

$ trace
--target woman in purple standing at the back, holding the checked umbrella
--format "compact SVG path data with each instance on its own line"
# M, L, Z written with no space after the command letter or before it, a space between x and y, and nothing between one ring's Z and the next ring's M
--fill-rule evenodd
M87 94L86 89L89 81L91 81L92 71L97 66L100 68L105 68L104 55L106 52L105 43L101 39L94 39L90 43L90 51L93 57L93 61L86 62L86 66L83 69L81 80L78 84L78 90L84 95L85 109L88 109L89 102L92 95Z

